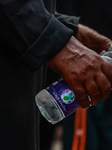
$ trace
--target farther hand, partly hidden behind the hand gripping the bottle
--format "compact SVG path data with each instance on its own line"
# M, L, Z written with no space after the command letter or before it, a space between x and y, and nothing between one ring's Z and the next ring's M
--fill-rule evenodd
M98 54L100 54L102 50L108 50L112 44L109 38L81 24L78 25L77 39Z

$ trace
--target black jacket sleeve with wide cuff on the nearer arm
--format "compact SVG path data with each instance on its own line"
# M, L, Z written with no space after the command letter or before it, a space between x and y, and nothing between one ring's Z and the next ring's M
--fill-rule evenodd
M0 17L0 40L10 44L31 70L54 56L73 35L45 9L42 0L1 0Z

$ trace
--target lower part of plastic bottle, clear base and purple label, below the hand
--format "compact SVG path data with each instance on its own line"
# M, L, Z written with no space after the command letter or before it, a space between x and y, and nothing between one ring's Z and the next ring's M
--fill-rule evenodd
M75 94L62 78L40 91L35 100L41 114L51 124L58 123L80 107Z

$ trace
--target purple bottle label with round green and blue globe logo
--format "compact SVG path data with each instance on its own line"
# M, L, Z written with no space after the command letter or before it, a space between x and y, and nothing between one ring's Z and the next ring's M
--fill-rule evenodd
M65 116L70 115L80 107L75 94L62 78L51 84L46 90L56 100Z

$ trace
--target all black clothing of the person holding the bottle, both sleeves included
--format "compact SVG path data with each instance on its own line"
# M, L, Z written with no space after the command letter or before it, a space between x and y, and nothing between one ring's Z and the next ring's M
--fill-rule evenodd
M58 15L61 23L54 12L54 0L0 1L0 150L39 150L42 64L77 33L76 17Z

